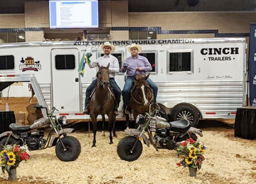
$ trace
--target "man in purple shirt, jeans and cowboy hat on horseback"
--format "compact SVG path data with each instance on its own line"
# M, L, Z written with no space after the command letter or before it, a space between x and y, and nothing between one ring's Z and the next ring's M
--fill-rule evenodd
M140 56L140 52L142 51L142 47L140 45L136 45L133 43L132 45L128 46L128 52L131 53L131 56L128 57L125 62L127 63L127 67L121 66L121 72L127 71L127 79L126 83L123 87L123 105L126 109L126 113L130 113L130 106L129 106L129 97L130 97L130 90L133 87L133 78L137 74L144 74L145 72L151 71L152 66L149 63L148 59L144 56ZM154 92L154 102L156 102L157 96L157 85L151 80L147 79L147 82L152 87Z

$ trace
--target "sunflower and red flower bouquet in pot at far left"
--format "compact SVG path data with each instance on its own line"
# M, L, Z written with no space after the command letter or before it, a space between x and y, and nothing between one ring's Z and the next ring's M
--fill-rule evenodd
M29 158L29 151L25 146L19 146L17 144L4 146L0 152L0 166L2 172L5 170L9 174L10 180L16 179L16 168L22 160Z

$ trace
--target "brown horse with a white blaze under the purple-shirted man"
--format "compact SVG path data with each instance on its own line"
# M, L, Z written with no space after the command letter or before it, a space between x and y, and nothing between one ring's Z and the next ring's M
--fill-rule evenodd
M133 88L130 92L130 107L133 111L133 118L136 120L138 114L149 112L149 105L154 102L152 88L147 83L147 76L138 74L133 80ZM136 124L135 124L136 126ZM126 114L126 128L129 128L129 115Z

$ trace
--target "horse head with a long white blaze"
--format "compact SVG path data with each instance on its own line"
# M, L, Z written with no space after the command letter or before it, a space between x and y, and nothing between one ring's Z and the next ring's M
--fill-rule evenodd
M149 73L150 74L150 73ZM133 99L143 105L147 106L153 99L153 92L151 87L149 87L147 83L147 78L149 78L149 74L147 76L138 74L134 77L134 92Z

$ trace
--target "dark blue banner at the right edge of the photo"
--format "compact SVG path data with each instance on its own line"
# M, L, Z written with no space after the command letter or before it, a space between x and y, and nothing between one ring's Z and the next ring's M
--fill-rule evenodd
M250 106L256 106L256 23L250 26L249 97Z

